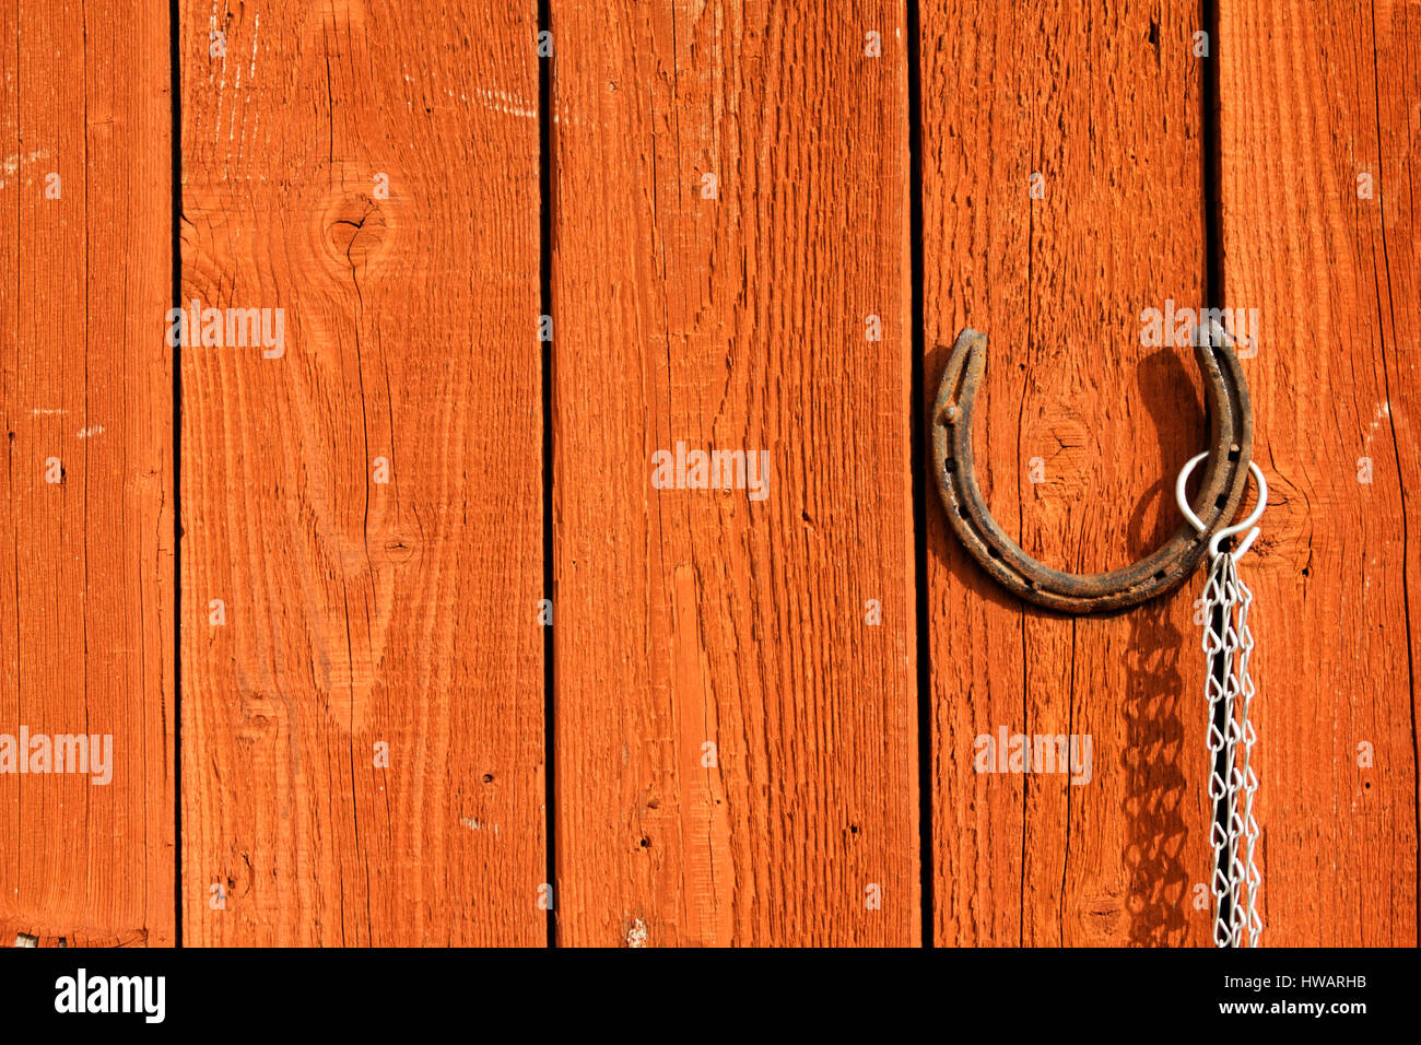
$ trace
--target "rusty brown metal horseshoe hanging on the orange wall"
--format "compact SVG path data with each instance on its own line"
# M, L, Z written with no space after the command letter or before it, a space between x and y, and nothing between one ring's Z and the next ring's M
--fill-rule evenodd
M938 492L968 553L1017 597L1064 613L1120 610L1181 584L1214 536L1233 519L1248 486L1253 415L1228 340L1222 333L1195 338L1212 428L1204 481L1192 502L1196 519L1181 522L1162 547L1130 566L1110 573L1063 573L1026 554L996 525L982 499L972 459L972 407L986 365L986 334L971 328L958 334L929 424Z

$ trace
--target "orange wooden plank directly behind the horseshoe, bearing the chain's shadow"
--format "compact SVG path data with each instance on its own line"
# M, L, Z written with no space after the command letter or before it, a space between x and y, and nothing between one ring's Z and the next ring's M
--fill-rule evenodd
M978 479L1059 569L1154 550L1205 445L1192 350L1148 345L1141 324L1204 304L1196 17L1140 0L921 9L922 395L962 327L988 334ZM975 566L935 492L928 516L936 941L1205 940L1194 596L1042 611ZM979 738L1003 732L1088 738L1088 773L979 772Z

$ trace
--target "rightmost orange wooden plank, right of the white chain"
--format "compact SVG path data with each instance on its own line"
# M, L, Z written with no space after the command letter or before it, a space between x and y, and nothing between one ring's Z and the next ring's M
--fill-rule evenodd
M1219 18L1225 282L1262 326L1270 493L1248 562L1265 941L1412 947L1421 11Z

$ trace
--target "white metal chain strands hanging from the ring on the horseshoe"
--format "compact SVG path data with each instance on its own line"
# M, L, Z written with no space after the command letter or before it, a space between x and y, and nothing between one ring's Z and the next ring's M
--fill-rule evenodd
M1258 947L1263 931L1258 914L1263 876L1255 859L1259 826L1253 818L1258 773L1252 755L1258 732L1249 721L1255 692L1249 675L1252 603L1253 593L1239 580L1233 554L1221 550L1212 556L1204 589L1204 651L1209 665L1205 695L1212 758L1214 943L1219 947Z

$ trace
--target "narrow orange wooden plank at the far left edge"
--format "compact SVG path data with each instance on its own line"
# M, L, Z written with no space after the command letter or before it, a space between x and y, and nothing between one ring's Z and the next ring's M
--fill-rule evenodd
M7 1L0 41L0 943L163 945L168 11Z

